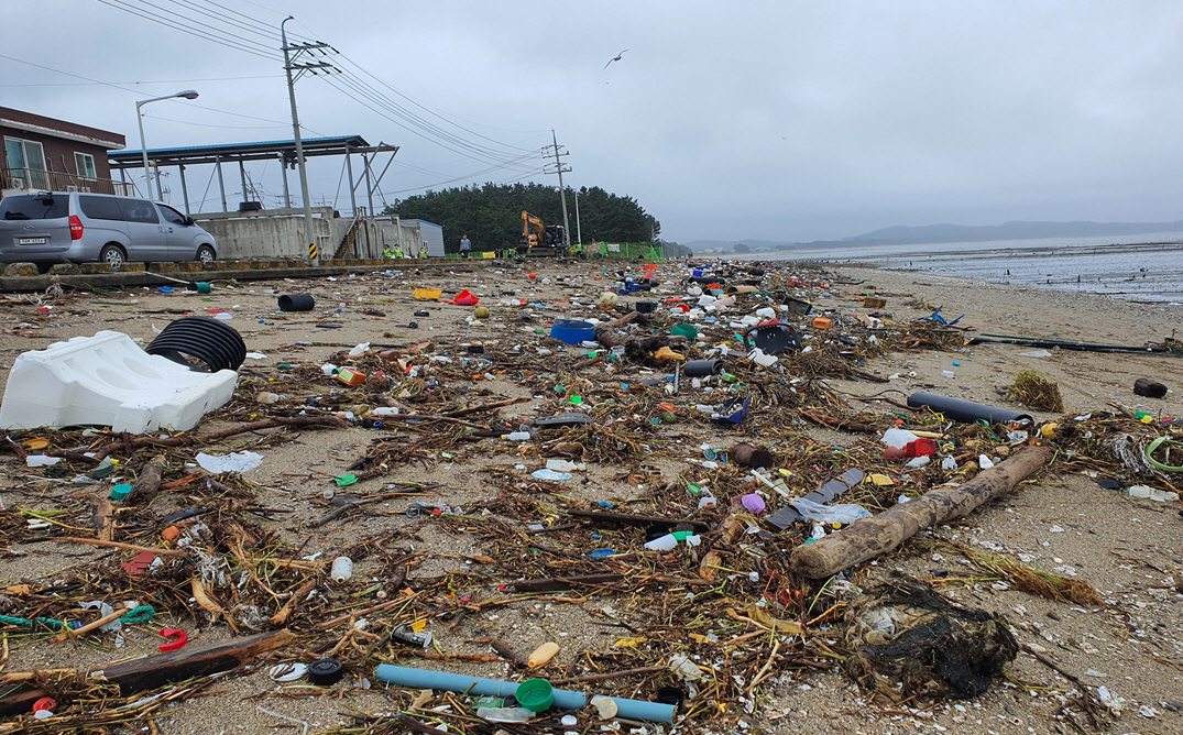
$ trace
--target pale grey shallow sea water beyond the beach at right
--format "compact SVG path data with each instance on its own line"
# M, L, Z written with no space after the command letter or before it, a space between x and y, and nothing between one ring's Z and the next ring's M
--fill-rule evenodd
M763 254L757 258L767 257ZM790 251L794 260L868 263L993 283L1183 304L1183 232Z

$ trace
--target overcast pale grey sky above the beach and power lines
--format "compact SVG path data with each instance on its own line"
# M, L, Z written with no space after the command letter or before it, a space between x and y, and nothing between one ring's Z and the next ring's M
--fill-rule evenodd
M144 108L149 148L290 140L282 62L121 8L256 50L277 46L259 32L292 14L289 32L331 44L342 56L327 60L345 70L297 84L304 135L400 146L387 200L433 185L557 183L531 173L537 159L503 165L555 129L568 185L635 198L678 241L1183 218L1174 0L106 1L6 4L0 104L122 133L138 149L135 102L194 88L195 102ZM278 165L248 170L273 204ZM313 200L349 208L341 172L340 159L311 160ZM192 199L211 173L189 169ZM237 172L226 181L240 188ZM175 174L166 186L180 201ZM205 199L220 209L215 180Z

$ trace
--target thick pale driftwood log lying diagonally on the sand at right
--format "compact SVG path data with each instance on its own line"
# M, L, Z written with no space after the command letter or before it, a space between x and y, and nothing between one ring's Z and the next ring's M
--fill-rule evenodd
M989 501L1014 490L1052 458L1049 446L1028 446L958 488L937 488L899 503L873 518L793 549L794 572L809 579L838 574L859 562L886 554L923 528L967 516Z

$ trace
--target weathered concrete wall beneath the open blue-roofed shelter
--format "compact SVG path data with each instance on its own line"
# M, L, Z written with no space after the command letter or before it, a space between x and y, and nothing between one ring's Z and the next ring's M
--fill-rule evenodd
M312 218L319 256L331 258L350 220L334 219L332 207L312 207ZM209 212L193 219L214 236L224 260L308 257L304 209Z

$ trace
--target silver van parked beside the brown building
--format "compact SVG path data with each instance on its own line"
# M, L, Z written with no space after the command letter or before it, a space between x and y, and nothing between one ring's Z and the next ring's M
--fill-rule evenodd
M41 192L0 199L0 263L218 259L212 234L173 207L112 194Z

